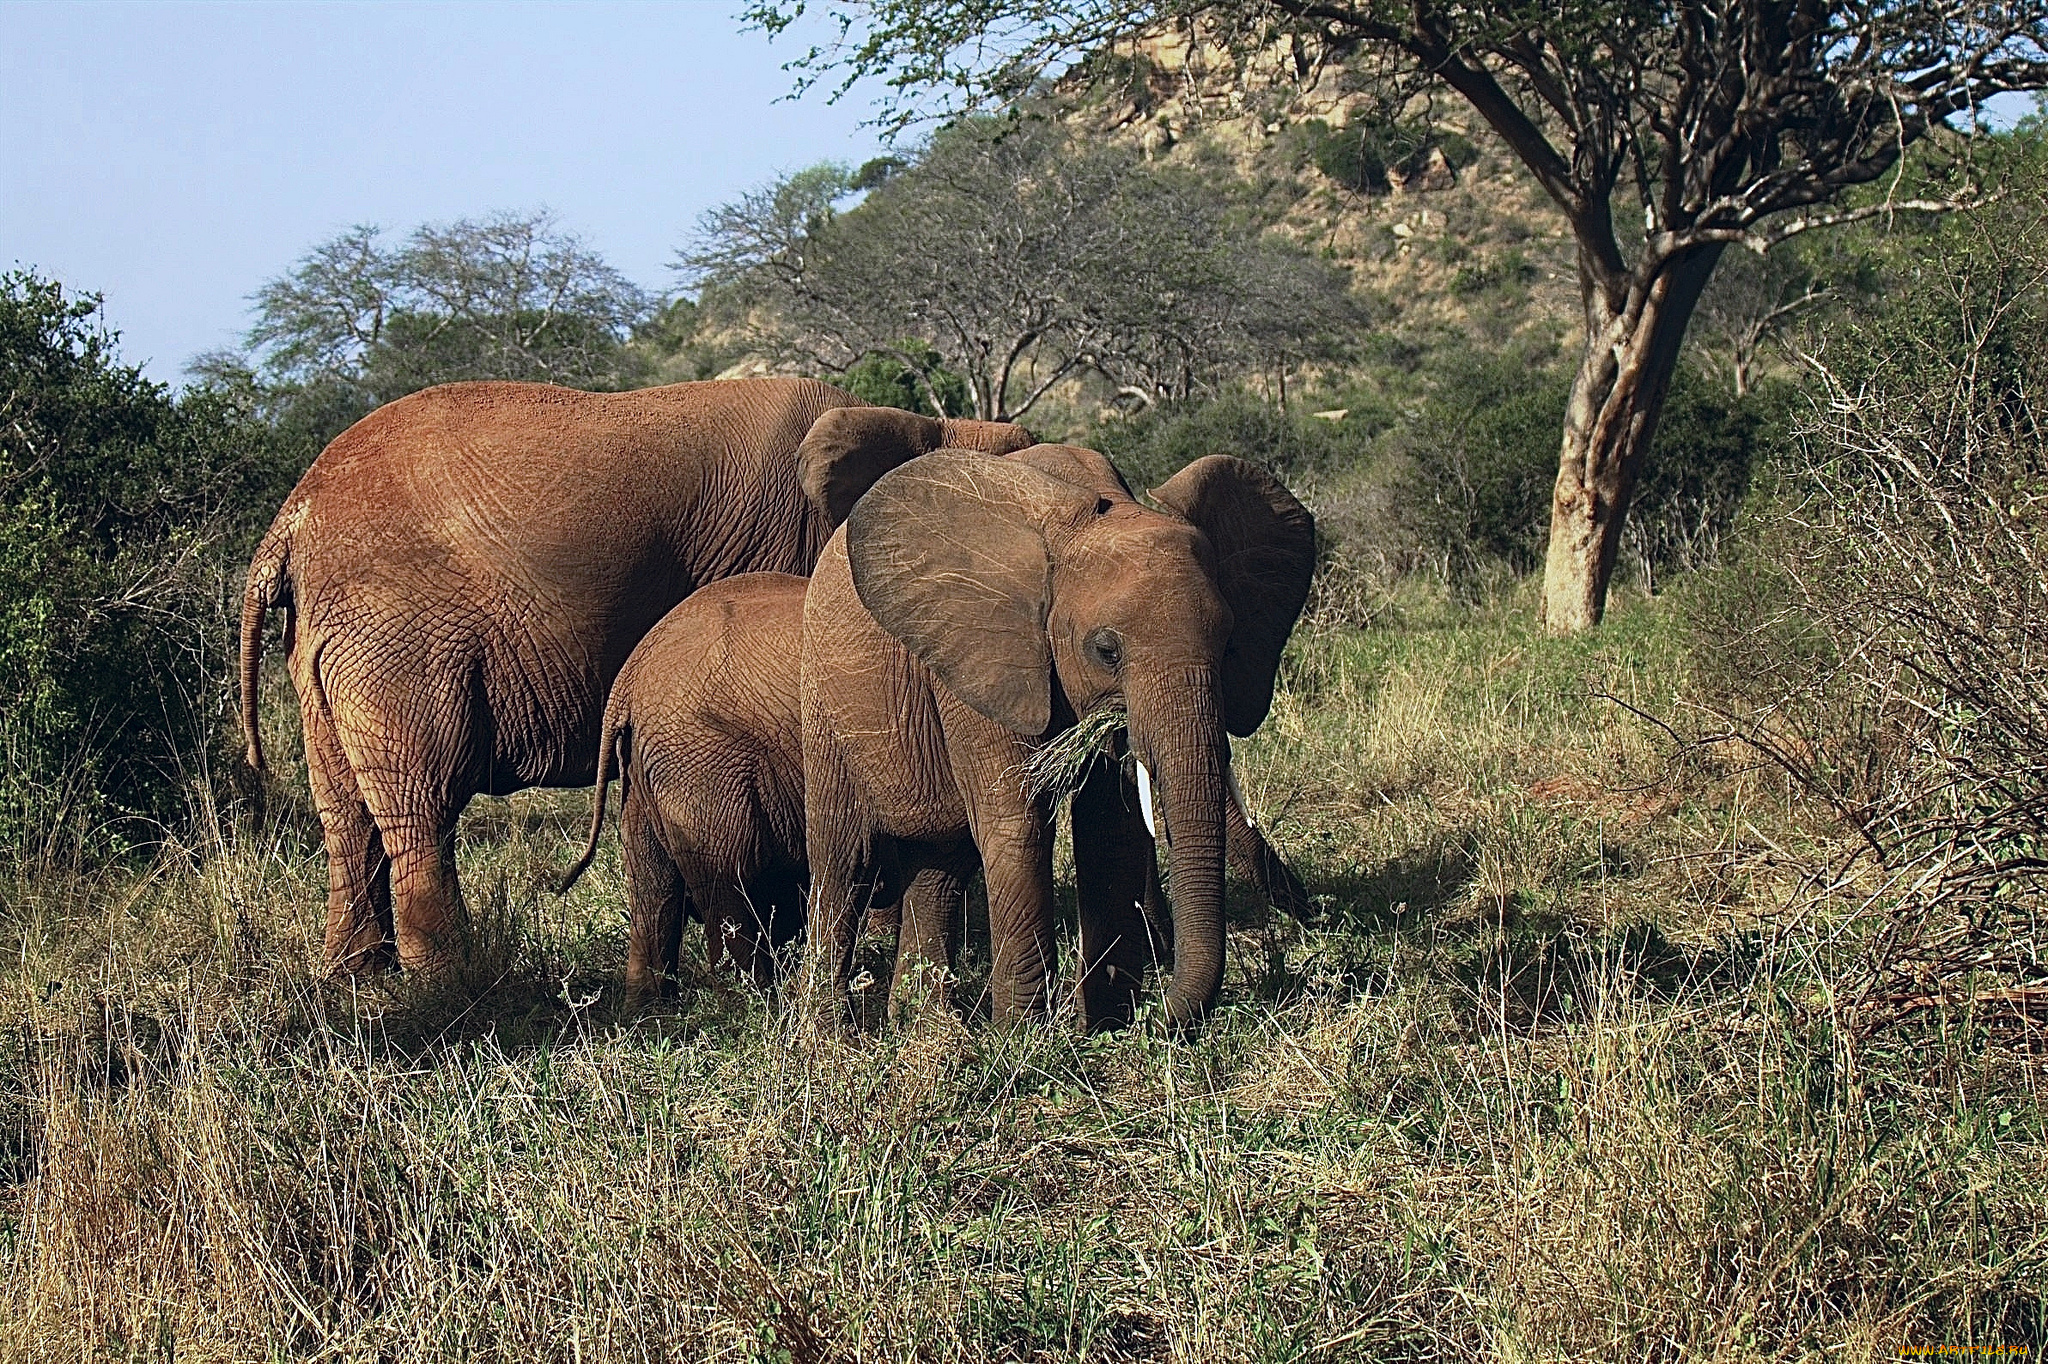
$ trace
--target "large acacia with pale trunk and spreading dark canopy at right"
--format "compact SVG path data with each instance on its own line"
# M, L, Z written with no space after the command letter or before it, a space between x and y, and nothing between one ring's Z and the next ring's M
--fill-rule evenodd
M758 0L786 29L801 0ZM1462 96L1563 209L1585 344L1565 414L1544 623L1593 627L1679 344L1729 246L1966 199L1837 207L1929 131L2048 86L2048 0L838 0L846 35L799 80L885 76L911 98L1014 98L1049 70L1180 25L1241 78L1356 49ZM1282 53L1280 61L1257 61ZM1636 229L1640 223L1640 231Z

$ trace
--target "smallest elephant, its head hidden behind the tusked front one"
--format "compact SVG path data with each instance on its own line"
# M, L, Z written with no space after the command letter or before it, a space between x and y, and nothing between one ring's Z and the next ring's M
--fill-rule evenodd
M686 918L702 920L715 967L731 961L762 987L803 928L797 666L807 586L788 573L743 573L700 588L662 616L612 682L590 840L561 889L596 856L616 772L633 999L672 991ZM942 958L961 893L954 879L920 881L907 961Z

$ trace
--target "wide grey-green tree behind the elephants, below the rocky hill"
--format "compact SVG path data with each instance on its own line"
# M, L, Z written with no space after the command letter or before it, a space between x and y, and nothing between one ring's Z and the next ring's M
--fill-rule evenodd
M934 410L930 363L973 414L1016 420L1094 371L1143 403L1346 330L1346 281L1214 184L1051 121L967 121L860 188L836 166L705 215L680 268L756 340L844 373L889 356Z

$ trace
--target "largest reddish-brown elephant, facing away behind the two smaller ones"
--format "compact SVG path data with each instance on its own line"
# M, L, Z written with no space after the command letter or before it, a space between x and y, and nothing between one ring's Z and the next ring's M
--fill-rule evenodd
M455 383L322 451L242 598L242 729L262 768L262 625L287 608L328 844L336 971L449 961L471 795L582 786L612 676L670 606L750 571L809 573L887 469L1004 422L938 422L809 379L582 393ZM799 479L797 453L823 451Z

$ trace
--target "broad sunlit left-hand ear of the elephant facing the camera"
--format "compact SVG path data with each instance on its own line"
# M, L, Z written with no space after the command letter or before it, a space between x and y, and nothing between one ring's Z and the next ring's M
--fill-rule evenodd
M877 623L997 725L1053 721L1044 528L1096 496L1008 459L942 451L881 477L846 520L854 592Z

